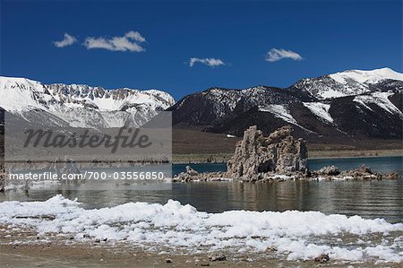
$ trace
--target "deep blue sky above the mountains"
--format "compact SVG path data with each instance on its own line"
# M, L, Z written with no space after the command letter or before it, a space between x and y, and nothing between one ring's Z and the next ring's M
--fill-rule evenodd
M402 72L401 1L1 4L0 73L45 83L156 88L180 99L347 69Z

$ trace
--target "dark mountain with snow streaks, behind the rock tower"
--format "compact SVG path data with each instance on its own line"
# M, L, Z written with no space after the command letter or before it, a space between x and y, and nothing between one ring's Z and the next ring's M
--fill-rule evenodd
M303 79L286 89L213 88L178 101L176 127L242 135L250 125L270 133L282 125L314 138L403 138L403 74L388 68Z

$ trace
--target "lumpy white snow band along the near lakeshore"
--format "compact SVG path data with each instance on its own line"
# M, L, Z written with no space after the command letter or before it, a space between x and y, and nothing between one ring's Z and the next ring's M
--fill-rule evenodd
M56 232L76 240L107 238L189 250L205 246L242 253L275 248L288 260L328 254L333 260L403 262L403 223L322 212L207 213L173 200L86 210L76 200L56 195L46 202L0 203L0 225L34 228L42 236Z

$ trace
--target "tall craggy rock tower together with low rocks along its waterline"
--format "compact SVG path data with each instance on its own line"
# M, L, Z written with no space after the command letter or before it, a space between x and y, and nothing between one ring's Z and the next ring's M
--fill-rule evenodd
M399 174L374 173L370 168L340 171L335 166L309 171L308 151L303 139L292 136L293 128L283 126L263 136L256 126L244 132L244 139L236 143L236 151L227 162L227 172L199 173L187 166L186 171L173 178L173 181L283 181L283 180L365 180L398 179Z

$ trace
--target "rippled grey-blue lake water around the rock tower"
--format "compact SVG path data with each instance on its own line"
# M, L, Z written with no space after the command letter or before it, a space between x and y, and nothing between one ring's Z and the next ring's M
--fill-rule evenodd
M365 164L373 171L395 171L403 175L403 158L359 158L309 160L311 169L335 165L339 169L355 169ZM177 174L186 165L174 165ZM193 169L224 171L225 164L193 164ZM276 183L200 182L176 183L172 191L44 191L33 190L0 193L5 200L42 201L62 194L78 198L86 208L115 206L128 202L167 203L174 199L190 203L200 212L228 210L252 211L320 211L384 218L390 222L403 220L403 179L382 181L284 181Z

